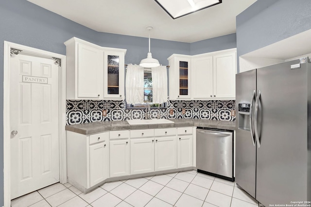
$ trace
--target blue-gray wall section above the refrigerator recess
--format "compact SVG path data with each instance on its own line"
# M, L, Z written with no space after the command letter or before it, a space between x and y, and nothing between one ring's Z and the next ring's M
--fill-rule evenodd
M310 30L311 1L257 0L236 20L239 57Z

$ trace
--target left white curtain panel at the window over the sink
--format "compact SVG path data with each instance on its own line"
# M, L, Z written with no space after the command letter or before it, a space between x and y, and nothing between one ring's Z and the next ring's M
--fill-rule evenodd
M127 65L125 78L126 103L144 102L144 68L139 65Z

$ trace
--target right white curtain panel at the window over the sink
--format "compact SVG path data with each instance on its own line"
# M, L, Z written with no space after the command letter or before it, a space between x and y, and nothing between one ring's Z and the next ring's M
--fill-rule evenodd
M153 67L152 100L153 103L167 102L167 69L166 66Z

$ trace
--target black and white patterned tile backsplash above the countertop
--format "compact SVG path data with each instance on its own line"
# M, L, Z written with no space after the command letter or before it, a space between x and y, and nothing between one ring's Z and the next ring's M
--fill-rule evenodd
M96 121L116 121L127 119L143 119L144 109L126 109L125 101L115 100L67 100L66 124L82 124ZM103 109L107 115L103 116ZM170 114L173 109L173 115ZM186 109L182 114L182 109ZM151 118L176 119L197 118L235 121L231 116L231 110L235 110L235 100L169 100L167 109L150 110Z

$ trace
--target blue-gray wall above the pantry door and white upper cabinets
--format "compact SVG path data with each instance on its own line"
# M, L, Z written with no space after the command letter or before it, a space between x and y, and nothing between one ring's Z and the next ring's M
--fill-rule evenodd
M39 48L59 54L66 54L64 42L75 36L104 47L125 48L125 63L139 64L147 57L148 39L126 35L96 32L62 16L49 12L26 0L1 0L0 5L0 82L3 82L3 41ZM173 53L193 54L235 47L234 34L230 43L214 40L196 43L181 43L151 39L153 57L163 65ZM222 39L222 38L221 38ZM209 46L210 45L210 46ZM206 48L205 48L206 47ZM190 49L191 48L191 49ZM0 134L3 134L3 85L0 84ZM3 142L0 142L0 169L3 168ZM3 206L3 171L0 170L0 206Z

